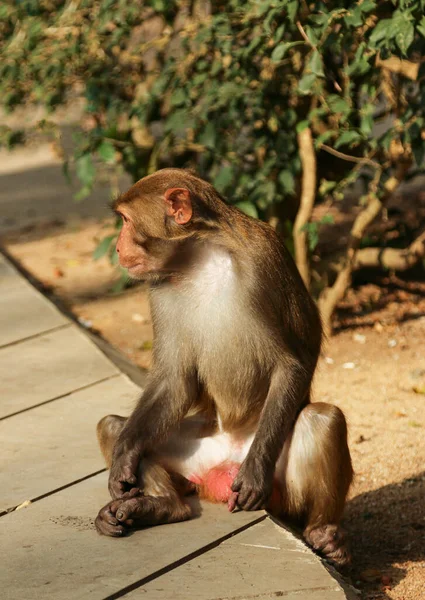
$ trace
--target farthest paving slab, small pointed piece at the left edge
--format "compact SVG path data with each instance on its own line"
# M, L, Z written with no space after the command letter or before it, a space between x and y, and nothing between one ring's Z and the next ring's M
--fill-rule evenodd
M69 321L0 255L0 346Z

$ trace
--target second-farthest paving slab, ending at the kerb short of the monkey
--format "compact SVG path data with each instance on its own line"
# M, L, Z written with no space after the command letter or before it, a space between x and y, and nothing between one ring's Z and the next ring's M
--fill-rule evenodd
M0 418L118 372L75 325L0 348Z

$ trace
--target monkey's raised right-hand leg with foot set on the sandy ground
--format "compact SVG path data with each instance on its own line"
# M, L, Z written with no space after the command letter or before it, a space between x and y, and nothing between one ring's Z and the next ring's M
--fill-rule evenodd
M276 475L284 513L304 522L307 543L329 560L347 564L350 554L339 521L353 470L339 408L317 402L301 411Z

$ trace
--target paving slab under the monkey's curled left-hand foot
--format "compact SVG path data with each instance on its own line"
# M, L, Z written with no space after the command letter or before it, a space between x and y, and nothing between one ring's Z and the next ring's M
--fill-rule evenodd
M263 515L204 504L197 519L108 538L93 525L106 489L102 473L1 518L2 600L101 600Z

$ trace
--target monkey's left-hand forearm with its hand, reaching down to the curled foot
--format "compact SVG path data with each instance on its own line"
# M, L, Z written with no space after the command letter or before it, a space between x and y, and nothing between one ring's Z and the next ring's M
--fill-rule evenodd
M156 372L127 420L116 444L109 472L112 498L138 483L143 455L155 450L189 410L197 394L194 375L172 378Z

